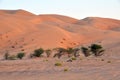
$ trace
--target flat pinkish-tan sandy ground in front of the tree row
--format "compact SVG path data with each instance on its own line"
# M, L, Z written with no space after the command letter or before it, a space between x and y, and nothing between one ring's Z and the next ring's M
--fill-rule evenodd
M120 80L120 59L89 57L73 62L66 60L1 60L0 80ZM56 62L61 62L62 66L55 66Z

